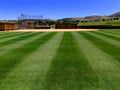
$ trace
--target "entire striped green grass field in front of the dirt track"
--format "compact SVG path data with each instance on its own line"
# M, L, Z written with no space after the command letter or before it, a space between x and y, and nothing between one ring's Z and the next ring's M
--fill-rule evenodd
M120 30L0 32L0 90L120 90Z

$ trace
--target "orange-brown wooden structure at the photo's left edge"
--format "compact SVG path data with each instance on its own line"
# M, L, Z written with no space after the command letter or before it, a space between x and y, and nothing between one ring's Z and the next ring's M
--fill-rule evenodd
M17 26L14 22L0 22L0 31L16 30Z

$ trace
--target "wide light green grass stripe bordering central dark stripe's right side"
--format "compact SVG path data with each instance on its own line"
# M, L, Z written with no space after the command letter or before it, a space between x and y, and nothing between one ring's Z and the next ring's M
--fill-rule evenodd
M94 44L84 38L82 35L73 32L79 47L87 58L93 70L99 78L101 88L98 90L119 90L120 89L120 64L114 58ZM84 90L91 90L85 88ZM95 89L96 90L96 89Z

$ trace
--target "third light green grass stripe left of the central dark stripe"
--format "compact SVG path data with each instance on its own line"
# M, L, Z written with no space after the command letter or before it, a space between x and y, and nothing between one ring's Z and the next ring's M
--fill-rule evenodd
M2 39L0 40L0 43L6 42L6 41L8 41L8 40L15 39L15 38L19 38L19 37L24 36L24 35L26 35L26 34L28 34L28 33L17 33L17 34L10 35L9 37L2 38Z

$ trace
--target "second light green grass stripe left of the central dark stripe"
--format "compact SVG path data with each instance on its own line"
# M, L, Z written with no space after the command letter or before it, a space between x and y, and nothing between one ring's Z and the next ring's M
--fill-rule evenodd
M30 38L27 38L27 39L24 39L24 40L21 40L17 43L14 43L14 44L10 44L10 45L7 45L5 47L2 47L0 48L0 56L10 52L11 50L13 49L16 49L16 48L19 48L19 47L22 47L23 45L27 44L27 43L30 43L44 35L48 34L48 32L46 33L42 33L42 34L38 34L38 35L35 35L33 37L30 37Z

